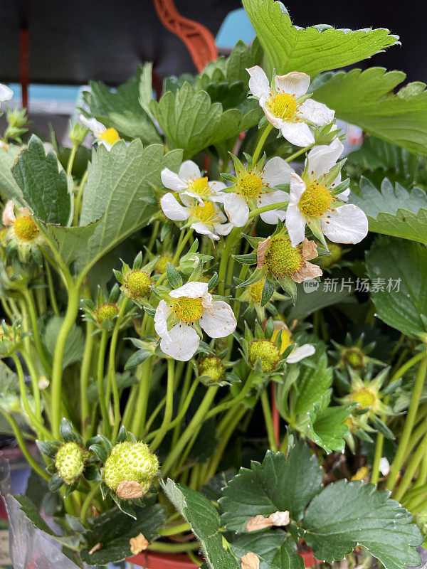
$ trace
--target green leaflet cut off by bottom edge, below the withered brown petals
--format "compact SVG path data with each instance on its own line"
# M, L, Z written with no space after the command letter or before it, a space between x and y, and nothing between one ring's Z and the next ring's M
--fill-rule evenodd
M282 530L241 534L231 543L231 551L239 558L252 551L260 559L260 569L304 569L295 541Z

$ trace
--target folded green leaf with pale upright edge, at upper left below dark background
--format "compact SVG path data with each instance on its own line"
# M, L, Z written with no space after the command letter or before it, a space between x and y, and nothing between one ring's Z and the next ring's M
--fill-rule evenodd
M105 127L112 127L129 138L140 138L146 144L161 142L157 128L147 112L147 97L152 98L152 76L149 65L139 66L135 77L119 85L115 92L101 81L91 81L90 91L83 92L88 105L86 117L95 117Z

